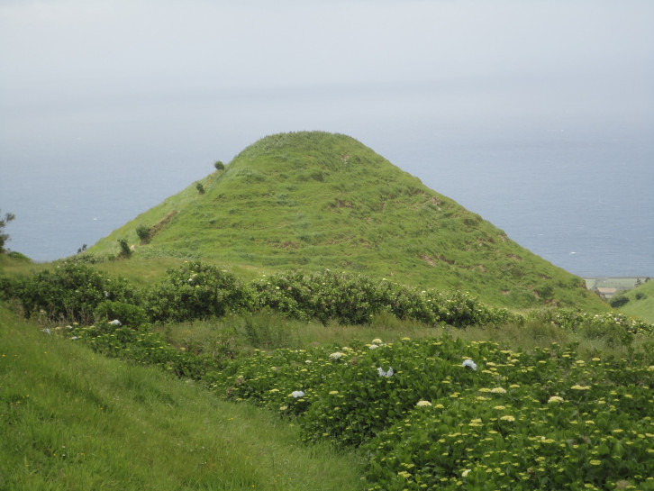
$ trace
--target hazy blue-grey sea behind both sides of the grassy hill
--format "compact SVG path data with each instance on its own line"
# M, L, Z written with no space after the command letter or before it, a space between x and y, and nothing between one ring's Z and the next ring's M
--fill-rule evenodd
M378 128L333 126L561 268L582 277L654 277L654 143L647 134L462 137L422 125L422 133L406 132L411 138L395 130L389 138ZM275 132L221 139L176 131L175 144L166 134L107 141L79 132L62 146L50 144L60 136L50 132L5 148L0 206L17 217L5 231L9 248L38 261L74 254L210 173L215 159L228 162Z

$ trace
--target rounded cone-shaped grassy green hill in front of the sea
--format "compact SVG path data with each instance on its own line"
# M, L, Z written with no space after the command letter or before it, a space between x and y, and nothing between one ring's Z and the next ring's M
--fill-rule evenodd
M134 257L212 259L263 271L345 269L495 305L602 308L583 281L511 241L350 137L268 136L98 241ZM145 226L150 240L137 237Z

